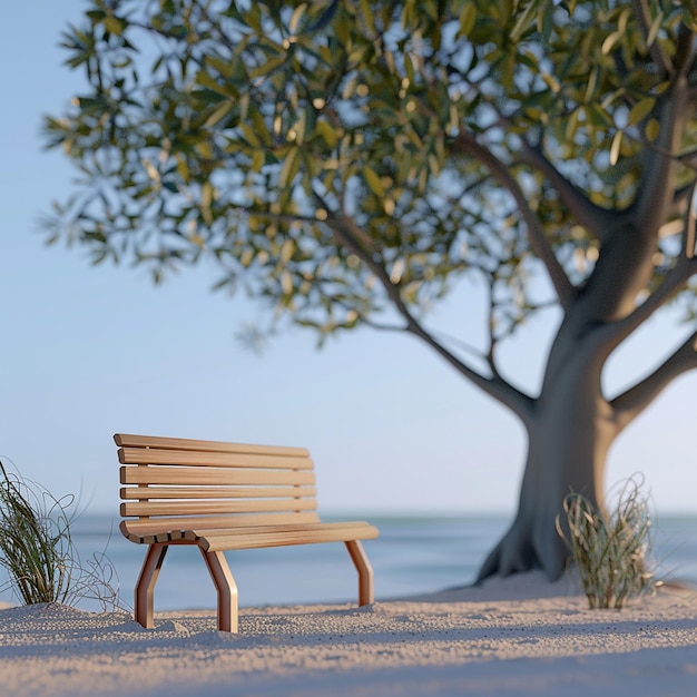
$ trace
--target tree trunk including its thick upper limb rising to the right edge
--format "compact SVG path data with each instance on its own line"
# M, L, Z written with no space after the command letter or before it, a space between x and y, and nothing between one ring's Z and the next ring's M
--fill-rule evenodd
M683 33L685 46L691 47L693 36ZM691 65L691 49L686 55ZM687 66L685 62L684 68ZM670 90L656 107L660 137L656 147L645 148L645 176L635 203L621 213L608 212L595 218L596 210L588 202L579 207L573 187L565 185L559 189L565 203L573 205L577 214L583 214L586 207L588 215L582 216L581 222L596 226L593 230L591 225L591 230L601 243L599 257L586 283L576 286L572 295L563 284L554 284L565 291L563 294L558 291L565 320L550 351L540 396L517 412L526 424L529 440L518 513L482 566L480 580L493 573L505 576L533 568L541 568L550 580L558 578L569 556L556 529L557 517L563 516L563 499L575 491L603 507L605 465L612 441L670 376L694 366L695 341L690 338L656 371L655 380L650 377L637 391L628 391L619 403L616 400L612 405L602 395L602 367L611 351L632 331L621 323L635 312L638 294L648 286L659 229L675 203L677 158L668 154L681 151L685 119L691 108L690 90L694 89L688 84L687 70L676 70ZM549 171L544 164L542 169ZM601 227L600 219L605 220ZM688 246L673 272L679 277L693 259L695 242L687 234L693 225L694 219L686 219L683 244ZM539 236L533 242L541 244ZM549 254L543 243L541 247ZM560 275L559 267L548 257L544 263L554 283ZM693 273L691 266L689 268ZM685 282L688 277L685 276ZM674 291L670 284L661 287L667 288L661 301L666 302Z

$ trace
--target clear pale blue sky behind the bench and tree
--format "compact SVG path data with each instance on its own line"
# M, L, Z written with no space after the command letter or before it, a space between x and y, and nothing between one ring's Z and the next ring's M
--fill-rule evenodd
M58 42L84 7L6 2L0 22L0 460L117 517L116 432L303 445L321 512L512 516L522 428L416 340L361 330L320 351L294 330L258 356L235 334L266 311L213 293L210 268L155 287L145 269L92 267L79 248L43 244L39 219L70 195L76 170L42 150L41 116L80 94ZM464 287L433 322L475 338L477 300ZM502 352L518 384L539 384L556 320ZM675 317L651 321L610 360L609 392L685 333ZM622 433L608 485L640 472L658 513L697 512L696 387L697 373L674 382Z

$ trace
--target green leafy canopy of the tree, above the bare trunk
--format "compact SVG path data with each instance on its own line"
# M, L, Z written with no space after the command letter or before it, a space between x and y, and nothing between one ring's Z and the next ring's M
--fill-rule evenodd
M605 212L650 195L646 159L673 145L658 97L695 78L689 1L95 1L87 18L63 46L91 89L46 121L86 175L56 235L156 278L214 255L219 285L244 277L323 333L386 306L409 323L474 272L495 341L549 300L527 283L539 259L568 295Z

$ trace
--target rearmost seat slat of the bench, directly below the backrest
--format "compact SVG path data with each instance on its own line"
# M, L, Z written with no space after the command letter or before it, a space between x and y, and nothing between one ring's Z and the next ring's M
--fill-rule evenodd
M317 523L320 518L314 512L303 513L252 513L248 516L208 516L190 518L149 518L122 520L119 524L121 533L134 542L153 542L147 536L167 533L170 531L209 530L217 528L235 529L251 526L277 526L297 523Z

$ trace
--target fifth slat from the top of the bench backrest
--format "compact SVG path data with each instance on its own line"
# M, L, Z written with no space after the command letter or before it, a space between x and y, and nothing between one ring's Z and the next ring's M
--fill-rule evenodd
M232 501L129 501L121 503L121 516L217 516L222 513L265 513L271 511L314 511L315 499L262 499Z

